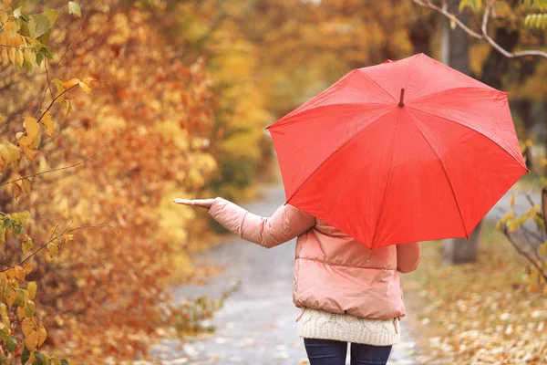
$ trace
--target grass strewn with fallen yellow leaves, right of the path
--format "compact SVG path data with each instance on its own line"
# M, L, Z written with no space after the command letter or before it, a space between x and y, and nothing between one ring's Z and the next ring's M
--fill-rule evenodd
M526 260L484 225L478 263L440 266L441 243L424 243L420 267L403 279L419 359L545 364L547 292L530 291L522 280Z

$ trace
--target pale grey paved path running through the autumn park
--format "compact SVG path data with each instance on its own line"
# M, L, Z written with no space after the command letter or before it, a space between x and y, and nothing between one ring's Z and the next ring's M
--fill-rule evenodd
M283 202L283 188L276 187L264 190L262 201L245 207L268 216ZM529 206L522 196L518 197L517 205L522 209ZM500 207L508 209L509 196L501 199L487 218L497 219ZM266 250L233 238L226 245L214 247L206 258L226 266L226 271L207 286L177 288L175 298L202 294L219 297L238 280L241 287L214 316L212 324L216 331L212 335L188 339L183 344L176 339L165 339L152 349L152 355L165 365L307 364L302 339L296 335L294 319L299 311L292 303L294 242ZM408 322L401 322L402 338L393 349L390 365L419 363L413 355L415 342Z

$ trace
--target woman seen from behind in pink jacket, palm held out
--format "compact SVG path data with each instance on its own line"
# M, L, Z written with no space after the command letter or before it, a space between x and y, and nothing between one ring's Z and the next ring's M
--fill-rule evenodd
M284 204L270 218L222 198L175 203L209 210L217 222L247 241L272 248L298 237L293 301L302 308L298 334L311 365L386 364L405 316L397 271L417 268L418 243L374 250L325 221Z

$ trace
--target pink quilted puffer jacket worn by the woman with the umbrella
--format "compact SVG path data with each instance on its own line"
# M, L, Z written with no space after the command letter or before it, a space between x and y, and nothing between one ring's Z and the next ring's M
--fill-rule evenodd
M280 207L272 217L263 218L216 198L209 214L233 234L266 248L298 237L293 289L296 307L359 318L405 316L397 271L416 269L418 243L370 250L290 204Z

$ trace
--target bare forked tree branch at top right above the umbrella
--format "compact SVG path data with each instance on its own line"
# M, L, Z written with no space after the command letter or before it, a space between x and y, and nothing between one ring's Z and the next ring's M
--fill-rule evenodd
M524 57L524 56L535 56L535 57L545 57L547 58L547 52L543 52L540 50L530 49L530 50L524 50L519 52L509 52L507 49L504 49L501 47L495 40L493 40L487 32L487 26L488 21L490 19L490 12L494 11L493 5L490 3L486 5L486 8L484 10L484 14L482 16L482 26L480 27L481 33L475 32L472 30L469 26L466 26L463 24L457 16L454 16L453 14L450 14L446 10L446 6L439 7L438 5L435 5L431 3L430 1L426 0L412 0L414 3L422 6L422 7L428 7L429 9L432 9L442 16L445 16L449 18L451 21L455 22L463 31L465 31L468 35L480 39L482 41L486 41L490 44L491 47L494 47L498 52L500 52L503 56L509 57L509 58L516 58L516 57Z

